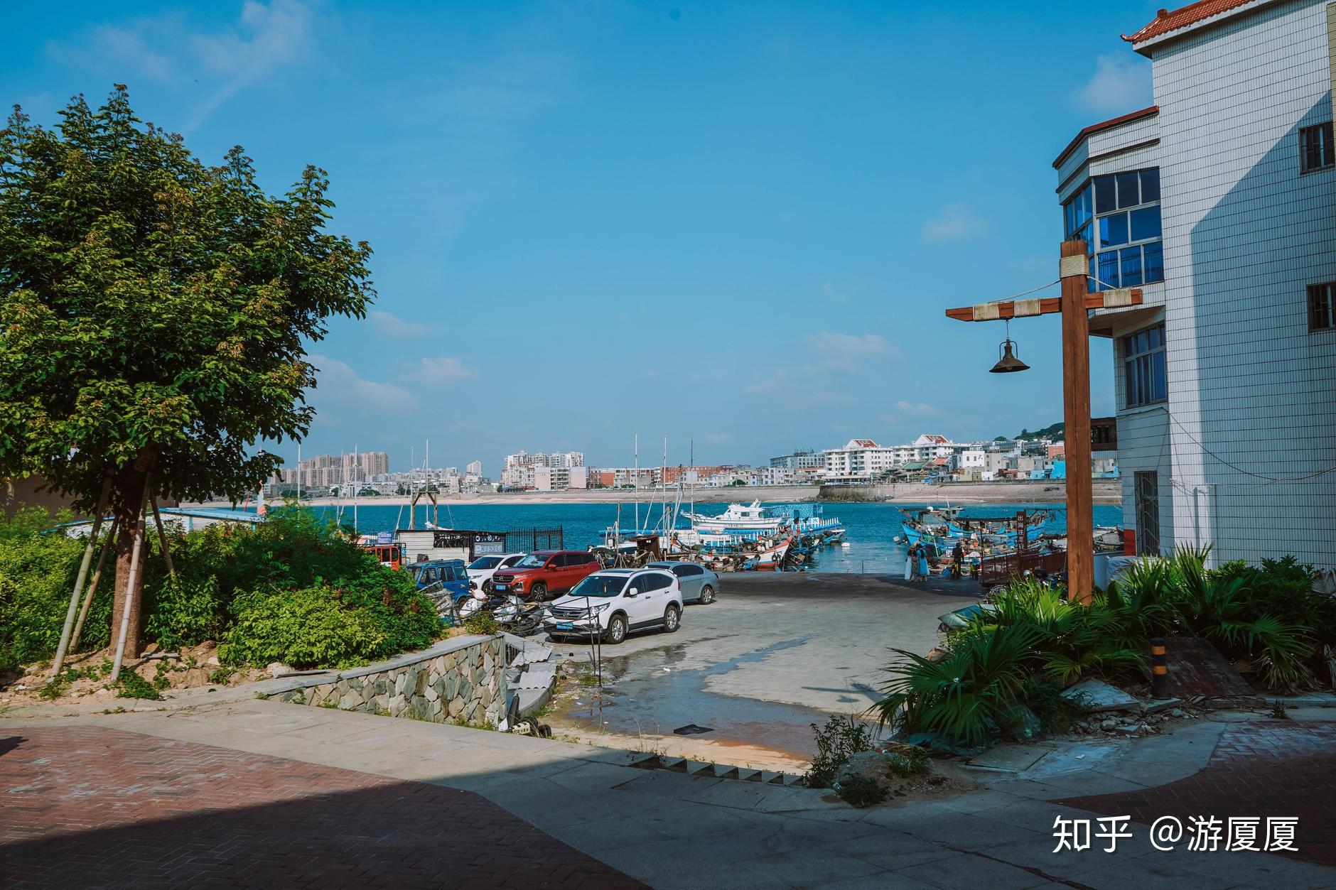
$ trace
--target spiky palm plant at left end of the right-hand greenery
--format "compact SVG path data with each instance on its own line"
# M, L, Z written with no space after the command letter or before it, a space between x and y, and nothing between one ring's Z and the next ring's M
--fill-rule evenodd
M894 679L872 706L882 726L933 732L963 747L985 744L1013 719L1038 632L1029 625L975 627L957 633L941 661L895 649Z

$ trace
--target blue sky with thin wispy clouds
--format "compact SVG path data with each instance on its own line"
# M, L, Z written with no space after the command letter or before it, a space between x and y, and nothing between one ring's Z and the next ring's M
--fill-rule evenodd
M1118 35L1158 5L17 4L0 99L52 122L127 83L271 191L330 172L379 301L313 346L303 456L607 466L639 432L758 462L1061 418L1055 318L995 376L1002 326L942 311L1057 278L1050 164L1150 104ZM1092 363L1112 413L1104 341Z

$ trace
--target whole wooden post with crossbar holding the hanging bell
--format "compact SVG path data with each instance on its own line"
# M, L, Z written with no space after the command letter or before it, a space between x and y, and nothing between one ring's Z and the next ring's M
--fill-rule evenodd
M1090 319L1093 309L1140 306L1140 287L1089 293L1083 241L1065 241L1058 259L1062 295L947 309L958 321L1002 321L1062 313L1062 422L1067 486L1067 591L1078 603L1094 593L1094 504L1090 482Z

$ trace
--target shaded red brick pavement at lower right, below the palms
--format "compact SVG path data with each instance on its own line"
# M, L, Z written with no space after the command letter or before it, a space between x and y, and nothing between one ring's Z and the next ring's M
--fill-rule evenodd
M1299 817L1299 853L1276 855L1336 866L1336 723L1248 720L1220 736L1206 767L1146 791L1055 800L1152 825L1164 815ZM1265 829L1259 833L1263 839ZM1182 838L1182 846L1188 843ZM1259 843L1259 846L1261 846Z

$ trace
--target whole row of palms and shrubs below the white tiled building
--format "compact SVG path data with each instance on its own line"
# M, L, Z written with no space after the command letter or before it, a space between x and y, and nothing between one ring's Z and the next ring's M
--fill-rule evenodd
M1277 691L1312 687L1336 672L1336 597L1315 593L1313 569L1293 557L1205 568L1209 549L1141 560L1089 604L1013 579L991 611L970 619L930 661L898 651L894 679L875 710L902 734L971 748L1017 732L1029 712L1049 732L1071 728L1075 703L1061 691L1083 676L1146 675L1150 637L1186 635L1260 667ZM1033 716L1029 718L1033 722Z

